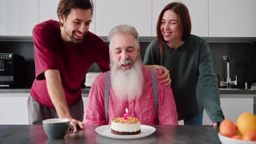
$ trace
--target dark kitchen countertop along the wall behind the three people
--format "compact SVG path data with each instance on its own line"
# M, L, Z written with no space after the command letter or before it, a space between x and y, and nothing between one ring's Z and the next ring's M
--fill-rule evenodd
M88 94L90 91L90 88L82 88L82 93ZM0 93L30 93L30 88L14 88L14 89L0 89ZM256 89L226 89L226 88L220 88L219 94L255 94L256 95Z

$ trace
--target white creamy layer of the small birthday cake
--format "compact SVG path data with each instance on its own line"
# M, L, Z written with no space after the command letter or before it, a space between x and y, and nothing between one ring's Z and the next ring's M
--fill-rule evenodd
M120 132L135 132L141 129L141 122L137 123L117 123L111 122L111 129Z

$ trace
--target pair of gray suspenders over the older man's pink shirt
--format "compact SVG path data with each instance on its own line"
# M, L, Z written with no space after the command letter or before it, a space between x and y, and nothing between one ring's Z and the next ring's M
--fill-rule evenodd
M153 94L154 94L155 123L158 124L159 123L159 119L158 119L158 87L156 85L155 71L153 69L149 69L149 70L150 70L152 86L153 86ZM108 124L109 83L110 83L110 71L107 71L105 92L104 92L104 112L105 112L105 117L106 117L106 124Z

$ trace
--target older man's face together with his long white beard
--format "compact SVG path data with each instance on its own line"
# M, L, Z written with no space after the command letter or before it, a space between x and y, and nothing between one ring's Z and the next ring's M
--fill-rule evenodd
M115 33L109 48L111 82L116 97L124 100L141 97L144 76L135 36Z

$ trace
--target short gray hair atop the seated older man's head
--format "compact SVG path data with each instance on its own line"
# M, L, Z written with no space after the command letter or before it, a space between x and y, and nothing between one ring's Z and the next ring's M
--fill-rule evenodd
M109 48L112 47L112 38L115 34L131 34L135 37L135 44L138 43L138 32L135 27L130 25L118 25L111 29L111 31L108 34L108 40L109 40Z

